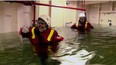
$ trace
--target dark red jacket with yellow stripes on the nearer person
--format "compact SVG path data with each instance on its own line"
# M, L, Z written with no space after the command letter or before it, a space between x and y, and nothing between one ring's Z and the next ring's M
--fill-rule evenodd
M47 29L46 31L41 33L42 36L42 43L45 45L44 47L42 47L40 45L40 40L39 40L39 36L35 33L37 29L35 27L30 28L30 35L29 35L29 39L31 41L31 43L34 45L36 51L38 53L47 53L48 52L48 45L52 46L52 51L56 52L57 51L57 46L58 46L58 42L59 40L57 39L58 37L58 33L53 30L53 29Z

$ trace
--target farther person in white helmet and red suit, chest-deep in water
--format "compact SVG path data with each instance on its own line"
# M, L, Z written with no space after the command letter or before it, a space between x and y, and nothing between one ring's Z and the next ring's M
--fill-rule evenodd
M77 29L79 34L85 34L85 32L90 32L93 26L87 21L85 13L80 13L79 21L75 22L71 29Z

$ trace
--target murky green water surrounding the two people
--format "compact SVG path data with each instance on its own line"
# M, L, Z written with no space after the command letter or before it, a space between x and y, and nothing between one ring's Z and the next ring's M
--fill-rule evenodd
M64 41L60 42L58 57L50 57L48 65L116 65L115 27L95 26L85 35L78 35L70 27L55 29ZM12 32L0 34L0 65L40 65L40 61L29 40L21 42L18 34Z

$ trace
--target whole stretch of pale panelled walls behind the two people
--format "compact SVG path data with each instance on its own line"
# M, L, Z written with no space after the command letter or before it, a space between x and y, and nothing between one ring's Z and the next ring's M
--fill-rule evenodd
M33 5L0 1L0 33L19 31L24 25L30 26L40 15L49 15L52 27L66 26L78 21L81 12L86 12L87 20L92 24L108 25L111 20L116 25L115 1L39 0Z

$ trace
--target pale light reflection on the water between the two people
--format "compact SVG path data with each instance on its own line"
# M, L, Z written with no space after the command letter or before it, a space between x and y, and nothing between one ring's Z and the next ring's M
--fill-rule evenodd
M59 57L52 58L60 61L60 65L86 65L94 57L94 52L88 52L81 47L80 41L86 35L78 35L77 31L71 30L69 27L56 28L56 30L59 31L61 36L65 37L65 40L60 43L60 49L57 53Z

